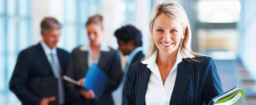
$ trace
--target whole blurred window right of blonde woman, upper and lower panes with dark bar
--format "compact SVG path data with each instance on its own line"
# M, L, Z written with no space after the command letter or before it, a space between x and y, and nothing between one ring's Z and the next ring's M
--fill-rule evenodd
M236 59L240 12L238 0L199 0L198 51L213 59Z

